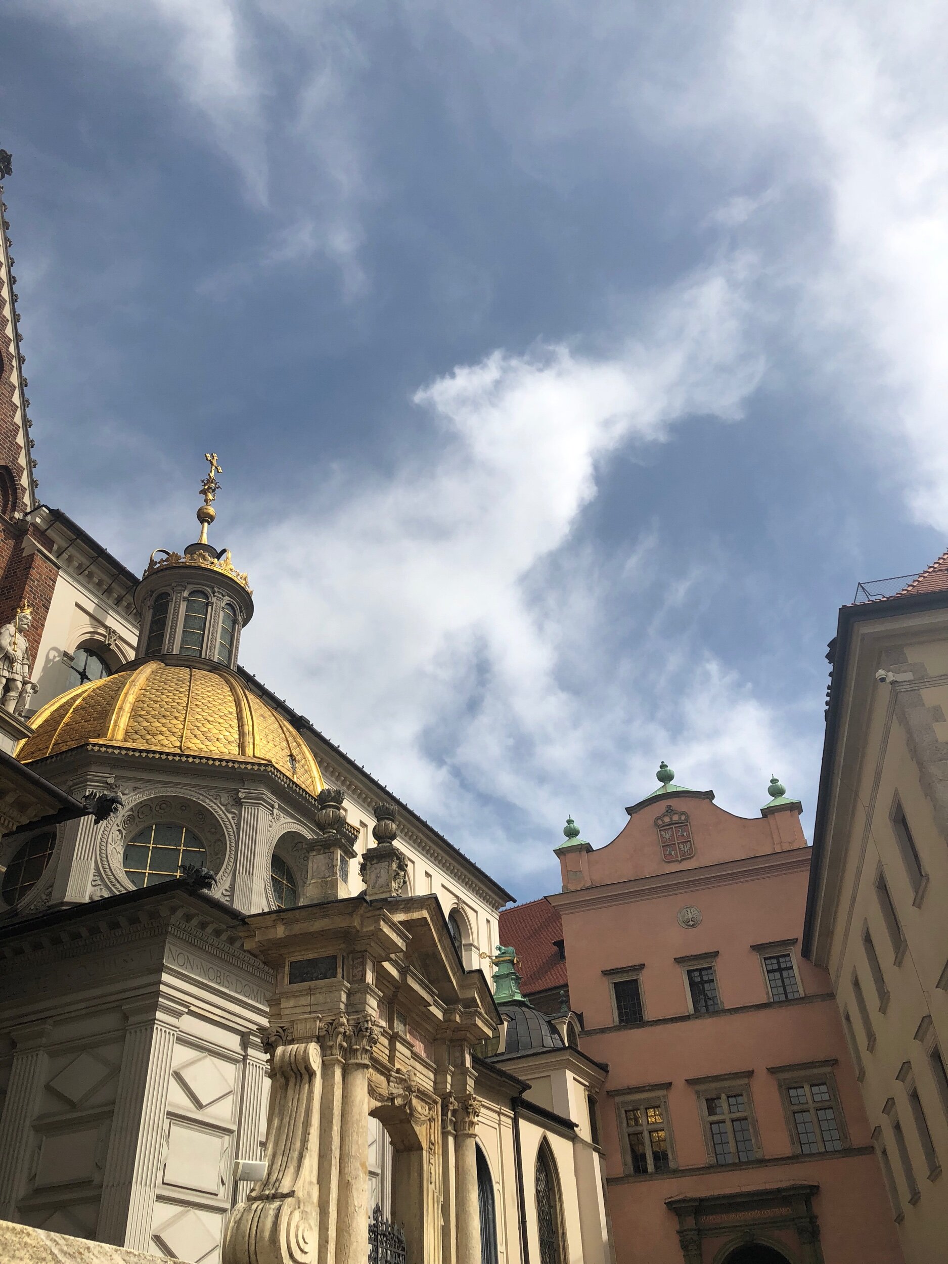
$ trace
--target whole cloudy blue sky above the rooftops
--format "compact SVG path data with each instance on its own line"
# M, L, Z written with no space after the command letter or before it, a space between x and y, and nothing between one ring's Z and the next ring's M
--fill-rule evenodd
M825 643L948 531L943 5L11 0L40 495L520 897L678 780L809 832Z

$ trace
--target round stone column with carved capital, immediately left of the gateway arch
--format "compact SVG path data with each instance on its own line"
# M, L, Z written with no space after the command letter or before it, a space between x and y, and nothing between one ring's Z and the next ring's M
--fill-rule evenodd
M339 1218L335 1264L365 1264L369 1254L369 1059L379 1030L368 1014L349 1031L339 1139Z

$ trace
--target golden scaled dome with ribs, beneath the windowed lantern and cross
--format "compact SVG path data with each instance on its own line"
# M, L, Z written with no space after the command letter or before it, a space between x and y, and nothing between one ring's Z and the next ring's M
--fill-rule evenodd
M20 742L24 763L76 746L204 755L272 763L303 790L324 786L316 760L296 729L233 671L152 660L61 694L33 717Z

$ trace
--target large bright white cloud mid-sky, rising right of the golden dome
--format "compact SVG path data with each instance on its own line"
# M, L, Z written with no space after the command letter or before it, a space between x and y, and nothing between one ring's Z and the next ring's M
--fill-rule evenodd
M743 258L703 273L612 358L554 346L456 368L416 394L436 436L389 479L365 483L351 468L263 537L235 542L258 598L245 659L507 875L512 842L521 872L547 871L546 844L528 844L547 832L555 842L580 803L584 828L611 837L616 795L645 793L672 744L699 775L720 771L715 751L733 756L738 803L750 794L756 806L766 785L758 776L748 790L744 769L776 757L774 717L681 638L660 650L662 603L683 600L689 575L669 581L648 538L621 595L638 586L651 605L651 585L655 605L635 643L588 670L613 636L617 594L575 538L619 447L660 442L686 416L741 416L762 370L751 281ZM659 655L662 670L643 671ZM504 805L493 824L485 798Z

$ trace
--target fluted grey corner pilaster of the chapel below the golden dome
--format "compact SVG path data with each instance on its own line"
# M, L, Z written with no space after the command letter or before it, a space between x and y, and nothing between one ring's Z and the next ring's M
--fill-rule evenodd
M164 1146L178 1024L187 1007L161 999L124 1006L128 1026L102 1174L96 1239L147 1251Z

